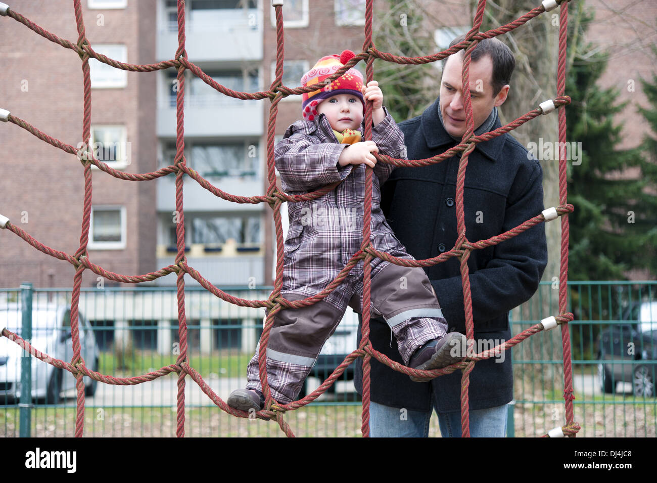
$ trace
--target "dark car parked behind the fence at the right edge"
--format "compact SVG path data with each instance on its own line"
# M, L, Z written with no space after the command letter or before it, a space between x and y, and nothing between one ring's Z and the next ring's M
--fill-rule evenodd
M630 306L622 323L609 325L600 333L598 344L603 392L614 393L619 382L631 382L635 396L656 396L657 301Z

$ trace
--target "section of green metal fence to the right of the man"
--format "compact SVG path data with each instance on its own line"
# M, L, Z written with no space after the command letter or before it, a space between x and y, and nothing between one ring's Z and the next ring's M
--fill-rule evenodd
M557 313L558 287L511 313L518 333ZM578 436L657 432L657 282L569 282L575 421ZM514 435L539 436L565 424L560 329L514 348Z

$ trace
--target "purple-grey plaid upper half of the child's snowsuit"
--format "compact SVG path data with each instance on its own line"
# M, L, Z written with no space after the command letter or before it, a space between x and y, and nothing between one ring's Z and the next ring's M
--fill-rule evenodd
M372 130L372 140L380 154L406 158L403 134L392 116ZM284 246L283 290L308 297L324 290L351 256L360 249L363 238L365 168L339 166L338 158L348 145L338 144L326 116L315 122L298 121L288 127L284 139L275 147L276 168L281 185L289 194L303 194L344 180L336 189L317 200L288 203L290 228ZM377 163L374 167L372 195L372 241L377 250L409 258L392 234L380 208L380 185L394 166ZM374 275L385 264L373 261ZM363 262L350 274L362 277ZM346 296L336 290L329 303ZM342 304L336 304L339 308Z

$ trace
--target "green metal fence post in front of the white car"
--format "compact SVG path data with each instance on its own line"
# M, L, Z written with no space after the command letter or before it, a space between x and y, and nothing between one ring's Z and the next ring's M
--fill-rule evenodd
M22 311L22 327L20 335L24 340L32 340L32 293L31 283L20 285L20 306ZM32 357L29 352L23 351L20 358L20 421L19 435L21 438L30 438L32 432Z

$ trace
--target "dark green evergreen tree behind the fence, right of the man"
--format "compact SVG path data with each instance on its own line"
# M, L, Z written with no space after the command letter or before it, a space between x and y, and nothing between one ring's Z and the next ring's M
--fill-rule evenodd
M591 18L582 20L584 31ZM581 158L570 163L568 179L568 201L575 206L570 214L569 278L621 280L629 269L647 265L646 229L652 231L654 254L655 167L642 156L641 147L616 149L622 126L614 125L614 115L625 103L616 102L618 89L596 84L608 56L590 55L591 44L576 43L572 48L576 51L566 93L573 101L566 118L568 141L581 143ZM654 110L651 114L657 117ZM650 265L654 272L654 260Z

